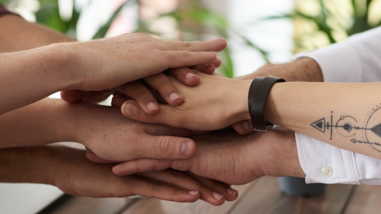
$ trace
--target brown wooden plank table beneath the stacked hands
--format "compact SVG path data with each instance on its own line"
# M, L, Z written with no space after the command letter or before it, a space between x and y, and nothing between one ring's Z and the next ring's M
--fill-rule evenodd
M290 197L280 193L275 177L234 186L239 198L221 206L204 201L176 203L152 198L88 198L69 196L39 214L379 214L381 186L327 185L325 194Z

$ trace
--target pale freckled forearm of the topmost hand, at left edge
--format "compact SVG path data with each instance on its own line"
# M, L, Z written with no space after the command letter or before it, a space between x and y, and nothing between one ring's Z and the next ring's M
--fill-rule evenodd
M0 54L0 114L74 89L79 78L70 68L75 65L73 58L60 44Z

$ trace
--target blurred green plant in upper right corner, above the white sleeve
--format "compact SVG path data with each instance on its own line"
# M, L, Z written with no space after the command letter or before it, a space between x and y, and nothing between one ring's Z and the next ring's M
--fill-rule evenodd
M289 14L295 23L295 52L310 51L381 25L381 0L304 0Z

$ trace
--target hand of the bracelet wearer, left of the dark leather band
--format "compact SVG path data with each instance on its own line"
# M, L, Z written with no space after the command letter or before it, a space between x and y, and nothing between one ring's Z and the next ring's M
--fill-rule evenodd
M122 113L128 118L145 123L162 123L192 130L216 130L242 120L250 119L247 94L250 80L231 80L220 75L200 75L199 85L187 87L171 78L173 85L184 95L178 106L160 105L160 112L149 115L136 101L128 100Z

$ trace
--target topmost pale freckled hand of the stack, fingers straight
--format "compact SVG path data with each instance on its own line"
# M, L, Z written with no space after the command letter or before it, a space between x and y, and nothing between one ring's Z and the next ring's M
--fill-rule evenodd
M173 67L211 64L216 60L214 51L223 50L226 40L167 42L136 33L55 46L60 53L69 53L67 69L78 80L67 89L101 91Z

